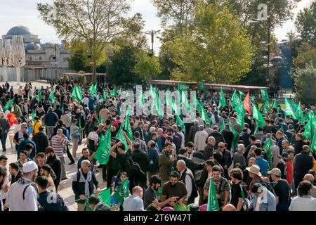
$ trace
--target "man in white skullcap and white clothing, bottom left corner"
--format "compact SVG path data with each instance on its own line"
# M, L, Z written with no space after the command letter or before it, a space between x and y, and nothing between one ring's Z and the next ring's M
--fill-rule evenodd
M18 179L8 191L6 206L10 211L37 211L37 164L34 161L25 162L22 167L23 176Z

